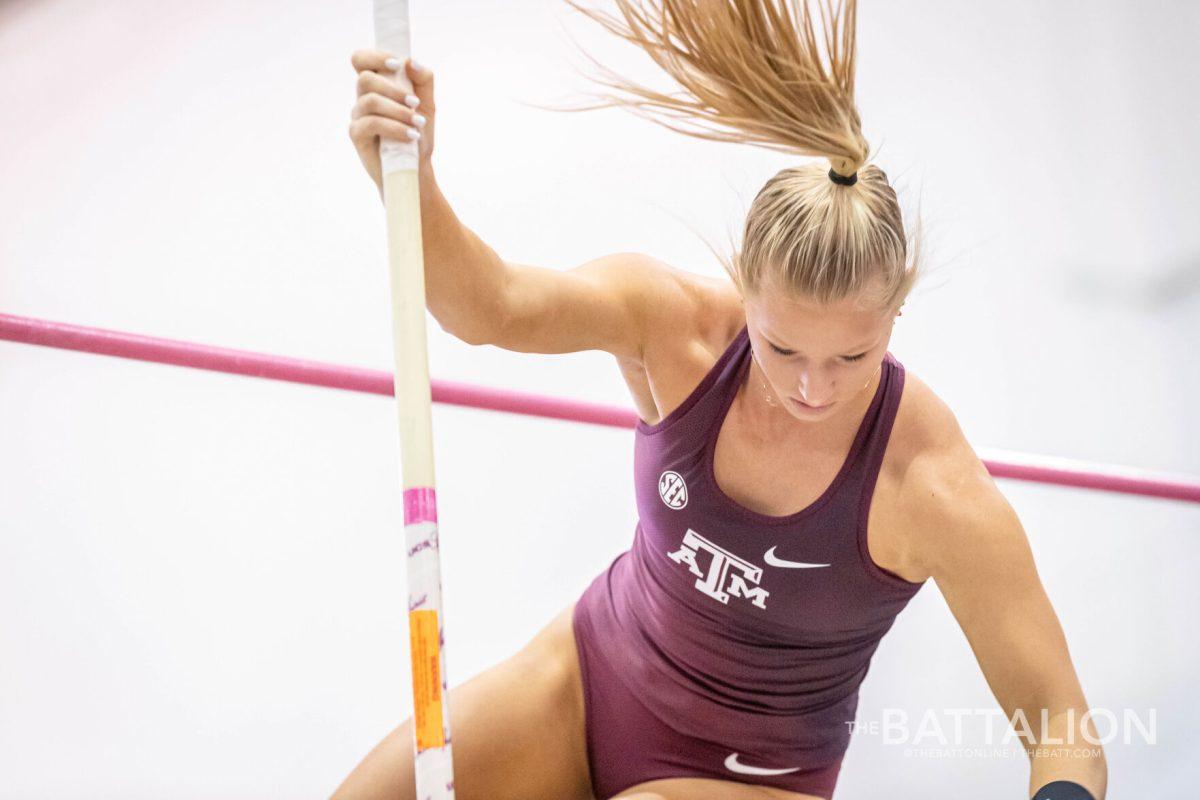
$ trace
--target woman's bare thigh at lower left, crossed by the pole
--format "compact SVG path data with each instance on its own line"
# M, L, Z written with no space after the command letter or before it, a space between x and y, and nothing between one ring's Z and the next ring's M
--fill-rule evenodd
M575 603L516 655L449 692L458 800L592 800ZM342 782L336 800L414 800L409 718Z

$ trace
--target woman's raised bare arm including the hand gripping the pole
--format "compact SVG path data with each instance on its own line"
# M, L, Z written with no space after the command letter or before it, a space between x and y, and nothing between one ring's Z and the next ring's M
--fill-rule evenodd
M443 330L522 353L604 350L641 361L646 342L678 332L694 314L686 273L648 255L616 253L569 270L505 261L455 216L434 178L432 71L378 50L358 50L352 64L359 77L350 139L377 186L379 137L419 139L426 302ZM396 86L398 68L413 95Z

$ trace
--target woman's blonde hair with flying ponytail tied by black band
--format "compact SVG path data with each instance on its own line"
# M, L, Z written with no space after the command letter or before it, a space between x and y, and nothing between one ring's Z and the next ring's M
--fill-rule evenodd
M622 107L686 136L828 160L768 180L740 249L718 253L743 295L772 285L820 302L863 291L880 308L904 302L920 223L908 261L896 193L868 163L854 106L856 0L816 0L821 31L806 0L614 0L619 16L566 2L642 48L684 90L641 86L590 59L601 73L593 79L613 94L574 110ZM858 180L835 184L830 168Z

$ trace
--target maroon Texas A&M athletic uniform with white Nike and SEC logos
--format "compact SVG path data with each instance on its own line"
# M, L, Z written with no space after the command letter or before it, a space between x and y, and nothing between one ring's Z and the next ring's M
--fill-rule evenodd
M904 366L886 354L836 477L785 517L739 505L713 474L749 366L743 327L679 408L637 425L634 545L574 613L598 798L684 776L828 798L871 656L923 585L866 549Z

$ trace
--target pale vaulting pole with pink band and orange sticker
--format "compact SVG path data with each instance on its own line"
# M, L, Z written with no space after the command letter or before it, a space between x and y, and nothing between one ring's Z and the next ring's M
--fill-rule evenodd
M408 0L374 0L374 28L376 46L401 61L408 61L412 53ZM413 90L403 68L396 71L396 82L406 91ZM413 663L413 765L418 798L452 800L454 768L433 481L432 395L425 336L425 258L421 249L416 143L384 139L379 143L379 157L388 217L392 351L396 361L394 383L404 492L408 640Z

